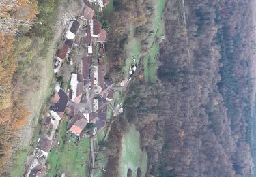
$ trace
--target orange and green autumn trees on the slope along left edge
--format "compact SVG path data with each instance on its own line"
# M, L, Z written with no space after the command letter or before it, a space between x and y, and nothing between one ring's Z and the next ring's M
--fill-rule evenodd
M0 7L5 29L13 22L12 31L0 31L0 172L4 172L10 157L16 130L29 118L24 96L40 84L38 70L53 38L59 3L58 0L17 2L15 5L8 0Z

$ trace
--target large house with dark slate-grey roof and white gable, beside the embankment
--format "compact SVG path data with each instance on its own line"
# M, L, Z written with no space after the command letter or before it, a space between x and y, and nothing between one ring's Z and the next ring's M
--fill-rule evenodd
M66 109L68 103L68 95L59 87L59 85L55 86L55 94L51 99L52 106L50 107L50 114L56 120L60 120Z

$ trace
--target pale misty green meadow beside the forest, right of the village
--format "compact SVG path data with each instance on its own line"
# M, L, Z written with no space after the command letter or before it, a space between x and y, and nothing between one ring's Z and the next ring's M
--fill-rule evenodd
M141 168L142 176L145 176L147 172L147 152L141 150L139 131L132 127L122 137L120 174L121 176L126 176L130 168L132 176L136 177L138 167Z

